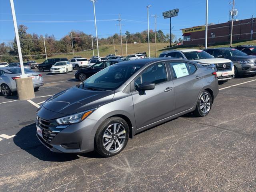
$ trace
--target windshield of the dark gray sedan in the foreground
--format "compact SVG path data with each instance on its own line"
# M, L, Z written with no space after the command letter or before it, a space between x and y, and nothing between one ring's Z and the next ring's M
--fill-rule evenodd
M90 90L116 90L142 65L114 64L85 80L80 88Z

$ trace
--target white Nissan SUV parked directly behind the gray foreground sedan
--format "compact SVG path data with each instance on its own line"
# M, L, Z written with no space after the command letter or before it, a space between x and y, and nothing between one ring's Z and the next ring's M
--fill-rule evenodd
M199 64L216 66L219 81L227 82L234 78L234 64L229 59L214 58L207 52L199 49L182 49L162 52L159 57L174 57L195 61Z

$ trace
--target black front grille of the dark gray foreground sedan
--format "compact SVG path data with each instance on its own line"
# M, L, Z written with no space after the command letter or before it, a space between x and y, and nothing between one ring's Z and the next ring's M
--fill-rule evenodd
M49 121L42 118L38 118L36 123L38 124L38 126L40 126L40 128L42 128L43 139L46 142L51 142L57 134L57 132L51 130L52 127L56 127L55 121Z

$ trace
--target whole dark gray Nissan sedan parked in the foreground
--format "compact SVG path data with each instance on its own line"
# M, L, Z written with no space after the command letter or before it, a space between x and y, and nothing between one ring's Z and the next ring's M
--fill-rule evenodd
M188 112L206 116L218 94L211 67L178 58L126 61L46 100L36 135L54 152L121 152L134 134Z

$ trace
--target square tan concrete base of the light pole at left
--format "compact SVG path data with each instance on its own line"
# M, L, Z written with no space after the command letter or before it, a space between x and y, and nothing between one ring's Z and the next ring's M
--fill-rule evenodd
M34 86L31 77L15 79L15 82L19 100L35 98Z

